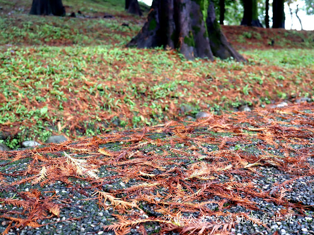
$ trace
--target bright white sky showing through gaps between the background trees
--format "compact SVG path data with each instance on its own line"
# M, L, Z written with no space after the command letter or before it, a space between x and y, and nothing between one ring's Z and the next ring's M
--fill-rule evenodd
M151 6L153 0L139 0L142 2L145 2L147 5ZM272 3L272 0L269 1L269 4ZM296 5L299 4L299 12L298 12L298 16L301 19L302 22L302 26L304 30L314 30L314 15L312 16L308 16L306 14L306 12L300 8L304 7L305 3L303 0L297 0L296 2L294 2L293 4L291 4L291 8L292 8L292 29L296 29L296 30L301 30L301 25L300 22L298 20L298 18L296 18L294 10L296 9ZM290 29L291 28L291 15L290 15L290 11L288 8L288 4L285 3L285 14L286 14L286 21L285 21L285 28L286 29ZM269 16L272 16L272 12L269 11Z

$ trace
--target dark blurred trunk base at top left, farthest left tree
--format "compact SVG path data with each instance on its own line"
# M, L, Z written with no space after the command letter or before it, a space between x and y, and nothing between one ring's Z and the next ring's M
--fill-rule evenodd
M62 0L33 0L29 14L64 16Z

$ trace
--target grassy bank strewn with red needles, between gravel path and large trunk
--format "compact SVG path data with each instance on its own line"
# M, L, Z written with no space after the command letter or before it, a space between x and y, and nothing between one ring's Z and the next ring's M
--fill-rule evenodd
M12 149L52 134L77 139L200 111L314 98L308 49L247 51L248 63L212 63L112 45L0 48L0 139Z

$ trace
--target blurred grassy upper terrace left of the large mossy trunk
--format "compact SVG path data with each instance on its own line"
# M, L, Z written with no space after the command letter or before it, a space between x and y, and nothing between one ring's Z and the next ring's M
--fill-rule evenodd
M64 17L0 18L1 44L14 45L102 45L126 44L140 26L122 26L123 20Z

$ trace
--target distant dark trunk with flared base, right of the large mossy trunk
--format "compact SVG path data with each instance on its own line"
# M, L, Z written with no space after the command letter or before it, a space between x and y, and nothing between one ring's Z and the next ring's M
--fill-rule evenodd
M263 27L258 18L257 0L243 0L244 12L241 25Z

